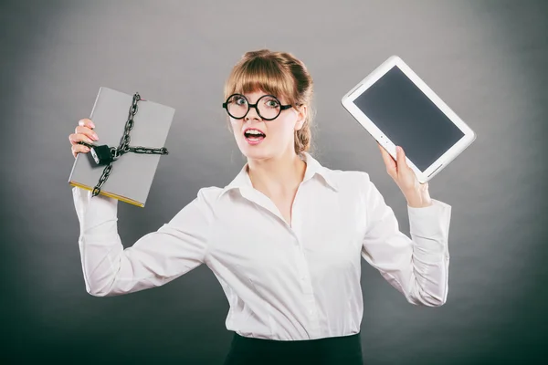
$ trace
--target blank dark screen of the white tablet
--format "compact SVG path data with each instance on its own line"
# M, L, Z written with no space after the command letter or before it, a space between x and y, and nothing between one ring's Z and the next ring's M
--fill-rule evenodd
M399 68L390 69L354 104L424 172L464 133Z

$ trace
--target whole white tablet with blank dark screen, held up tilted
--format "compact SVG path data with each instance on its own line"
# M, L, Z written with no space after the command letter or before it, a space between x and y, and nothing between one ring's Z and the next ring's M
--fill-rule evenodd
M395 159L395 146L426 183L476 139L476 133L397 56L342 97L342 106Z

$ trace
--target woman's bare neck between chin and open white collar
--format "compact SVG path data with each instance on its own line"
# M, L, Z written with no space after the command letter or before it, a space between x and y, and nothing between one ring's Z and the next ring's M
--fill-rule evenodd
M272 195L292 193L302 182L306 162L295 151L264 160L248 160L248 175L253 187Z

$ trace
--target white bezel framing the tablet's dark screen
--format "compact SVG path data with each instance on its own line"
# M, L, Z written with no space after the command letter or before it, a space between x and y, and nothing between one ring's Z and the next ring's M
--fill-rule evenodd
M390 155L395 159L395 143L390 141L388 137L379 130L379 128L374 124L372 120L367 118L367 116L360 110L353 101L357 99L366 89L369 89L374 83L382 78L386 72L390 69L397 67L399 68L407 78L409 78L418 89L420 89L428 99L430 99L439 110L441 110L449 120L451 120L459 130L462 131L464 136L457 141L448 151L445 151L435 162L433 162L428 168L421 172L406 156L406 162L413 169L416 174L416 178L420 183L427 183L430 179L437 175L449 162L453 161L458 154L464 151L472 141L476 139L476 133L469 128L469 126L461 120L458 115L451 110L448 105L440 99L437 94L430 89L427 84L419 78L416 73L409 68L406 63L398 56L391 56L385 60L378 68L375 68L368 76L366 76L362 81L360 81L356 86L354 86L349 92L347 92L341 99L342 106L344 109L348 110L355 120L357 120L365 130L367 130L372 137L379 142L385 150L390 153ZM406 150L405 144L402 143L404 151Z

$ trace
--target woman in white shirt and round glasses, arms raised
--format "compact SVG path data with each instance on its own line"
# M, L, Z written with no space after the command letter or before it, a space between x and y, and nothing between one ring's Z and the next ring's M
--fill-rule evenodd
M159 287L206 264L230 304L226 364L362 364L361 256L410 303L444 304L451 207L429 197L403 151L395 161L379 145L406 197L412 239L402 234L366 172L331 170L311 157L311 98L300 60L246 53L227 79L223 108L248 163L125 250L118 201L74 187L88 292ZM80 120L70 134L75 157L89 151L79 141L98 140L93 127Z

